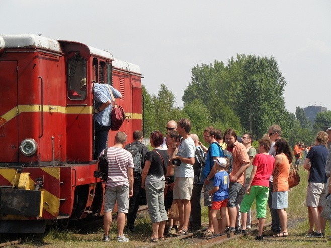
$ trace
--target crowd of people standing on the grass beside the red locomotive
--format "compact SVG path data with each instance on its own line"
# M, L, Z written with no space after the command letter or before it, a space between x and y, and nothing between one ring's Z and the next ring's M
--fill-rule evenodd
M258 151L252 146L252 134L244 133L240 137L231 128L223 134L214 127L206 127L203 140L208 147L199 141L197 134L190 133L191 122L188 119L171 120L166 130L165 135L160 131L150 134L151 151L141 143L142 132L133 133L134 144L139 147L138 162L131 144L123 148L126 142L123 132L116 134L114 146L107 150L109 174L104 207L104 241L109 241L115 202L117 240L129 241L123 234L125 214L128 218L126 230L131 231L143 191L152 223L150 242L164 240L165 235L187 235L189 231L207 239L225 234L230 236L231 233L247 235L252 225L250 208L254 200L259 220L255 240L261 241L265 236L289 236L287 180L294 158L294 165L299 169L302 152L306 151L304 144L298 143L292 153L288 142L281 138L279 125L270 126L258 140ZM318 132L315 145L307 151L303 163L309 174L306 206L310 228L307 237L325 236L327 220L320 213L326 196L331 193L331 155L327 141L331 141L331 128ZM202 190L203 205L208 207L209 214L206 228L201 223ZM267 204L272 225L270 230L263 230ZM178 209L178 218L168 216L174 206Z

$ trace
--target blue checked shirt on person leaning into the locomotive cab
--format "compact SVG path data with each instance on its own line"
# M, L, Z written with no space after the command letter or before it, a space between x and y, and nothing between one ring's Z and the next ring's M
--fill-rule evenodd
M108 85L108 86L107 86ZM106 103L107 101L112 101L112 97L110 96L110 91L112 90L112 93L114 95L114 98L121 98L121 93L114 89L109 84L105 83L95 83L93 85L93 91L94 91L94 108L100 107L102 104ZM111 103L109 106L107 106L104 110L102 110L99 113L94 114L94 120L98 122L101 126L110 126L110 112L112 111L113 104Z

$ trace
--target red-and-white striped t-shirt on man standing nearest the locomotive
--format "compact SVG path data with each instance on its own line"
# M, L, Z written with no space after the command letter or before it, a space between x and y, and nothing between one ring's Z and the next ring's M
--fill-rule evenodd
M100 155L104 154L103 150ZM120 185L130 186L128 168L134 168L132 155L124 148L110 147L107 150L108 157L108 180L106 187Z

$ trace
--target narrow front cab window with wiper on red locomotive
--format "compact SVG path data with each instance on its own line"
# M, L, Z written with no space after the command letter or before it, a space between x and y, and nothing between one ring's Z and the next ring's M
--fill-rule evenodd
M79 54L68 60L68 97L71 100L86 97L86 60Z

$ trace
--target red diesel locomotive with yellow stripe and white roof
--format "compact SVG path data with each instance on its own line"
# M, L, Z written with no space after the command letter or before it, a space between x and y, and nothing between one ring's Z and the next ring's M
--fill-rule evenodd
M44 232L103 215L92 81L121 92L120 131L132 142L142 128L141 78L139 66L79 42L0 36L0 232Z

